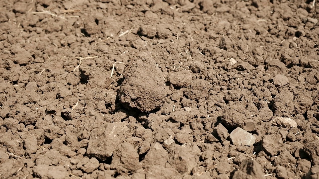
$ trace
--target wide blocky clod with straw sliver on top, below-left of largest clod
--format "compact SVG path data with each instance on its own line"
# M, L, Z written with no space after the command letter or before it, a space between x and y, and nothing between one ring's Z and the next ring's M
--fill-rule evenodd
M113 151L125 139L124 133L129 130L121 123L108 123L93 129L86 153L100 160L112 156Z

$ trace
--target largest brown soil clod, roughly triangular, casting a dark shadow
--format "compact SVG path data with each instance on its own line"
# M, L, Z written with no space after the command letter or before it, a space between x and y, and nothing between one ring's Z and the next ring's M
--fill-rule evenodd
M139 54L126 64L125 77L119 93L126 108L137 108L143 112L160 108L165 103L166 91L162 71L147 54Z

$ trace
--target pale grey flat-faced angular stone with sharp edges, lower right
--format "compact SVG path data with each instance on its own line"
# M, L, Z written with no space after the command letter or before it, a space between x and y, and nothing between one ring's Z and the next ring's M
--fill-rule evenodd
M233 145L251 146L255 144L256 137L251 133L237 127L229 135Z

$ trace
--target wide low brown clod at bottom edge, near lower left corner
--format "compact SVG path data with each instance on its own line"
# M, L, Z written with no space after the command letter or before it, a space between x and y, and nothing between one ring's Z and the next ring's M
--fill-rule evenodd
M42 179L64 179L69 176L66 168L62 165L48 166L45 164L34 166L33 174Z

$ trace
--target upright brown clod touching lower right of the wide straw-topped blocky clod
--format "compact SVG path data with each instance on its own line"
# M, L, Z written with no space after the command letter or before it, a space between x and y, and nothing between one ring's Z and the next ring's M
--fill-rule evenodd
M141 168L137 150L130 143L124 142L117 146L113 153L111 168L117 173L134 173Z

